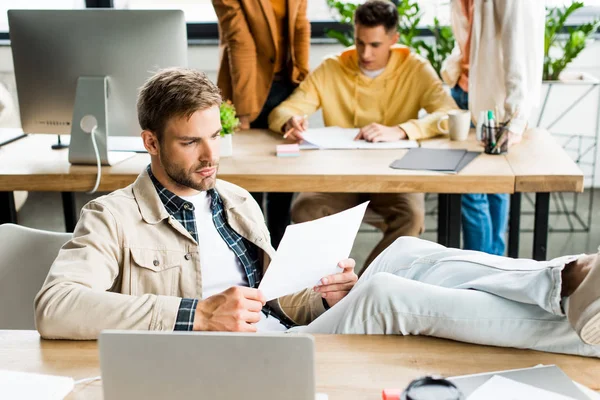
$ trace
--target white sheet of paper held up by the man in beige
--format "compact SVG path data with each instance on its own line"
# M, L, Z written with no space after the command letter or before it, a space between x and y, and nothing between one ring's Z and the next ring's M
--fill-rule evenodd
M369 202L340 213L287 227L258 288L267 301L315 286L341 272Z

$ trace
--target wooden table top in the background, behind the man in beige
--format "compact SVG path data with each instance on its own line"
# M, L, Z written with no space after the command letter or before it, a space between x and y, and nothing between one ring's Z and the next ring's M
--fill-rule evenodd
M583 174L557 144L551 150L559 154L560 164L555 162L556 156L541 151L536 162L531 162L529 147L537 148L539 140L552 146L553 139L548 143L542 134L529 139L529 147L523 145L524 150L515 150L514 155L511 149L509 157L482 154L459 174L389 168L407 150L309 150L302 151L299 157L278 158L275 146L283 143L279 135L251 130L238 132L233 139L233 157L221 159L219 178L249 191L513 193L518 178L510 160L519 166L520 173L535 177L526 185L528 190L537 191L535 184L549 191L583 188ZM67 149L50 149L55 141L55 136L29 135L0 147L0 191L90 190L96 180L96 167L71 166ZM473 135L466 142L438 138L421 145L481 150ZM149 160L148 154L137 154L113 167L104 167L99 191L129 185ZM540 163L544 166L540 167Z

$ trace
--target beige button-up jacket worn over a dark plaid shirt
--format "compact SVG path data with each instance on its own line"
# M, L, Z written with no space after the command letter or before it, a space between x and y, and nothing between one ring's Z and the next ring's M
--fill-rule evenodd
M266 269L275 250L258 204L231 183L219 180L216 190L230 226L259 247ZM96 339L103 329L171 331L181 299L202 298L202 250L144 171L82 209L35 298L37 329L55 339ZM298 325L325 311L311 290L269 304Z

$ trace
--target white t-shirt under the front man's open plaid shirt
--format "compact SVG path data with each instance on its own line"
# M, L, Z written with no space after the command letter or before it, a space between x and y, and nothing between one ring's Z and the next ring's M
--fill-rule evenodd
M194 205L198 231L198 256L202 269L202 300L232 286L248 287L244 266L219 234L212 219L211 197L208 192L181 197ZM277 318L261 313L259 331L285 331Z

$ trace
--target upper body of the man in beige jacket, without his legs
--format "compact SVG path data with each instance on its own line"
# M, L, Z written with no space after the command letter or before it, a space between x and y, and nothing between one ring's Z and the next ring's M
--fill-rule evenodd
M260 265L275 251L258 204L216 179L220 103L219 89L192 70L162 71L142 88L138 117L151 164L83 208L35 300L42 336L283 330L310 323L354 285L346 260L325 297L305 290L265 304Z

